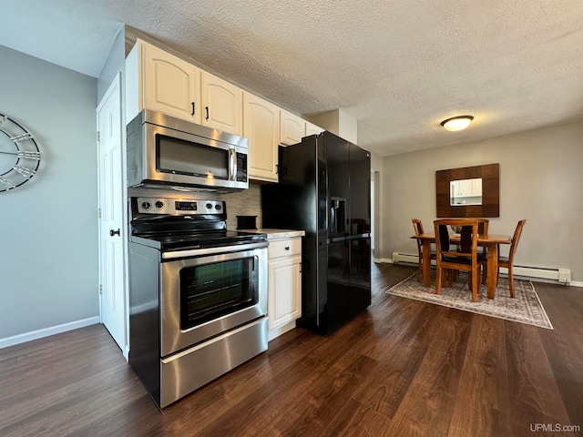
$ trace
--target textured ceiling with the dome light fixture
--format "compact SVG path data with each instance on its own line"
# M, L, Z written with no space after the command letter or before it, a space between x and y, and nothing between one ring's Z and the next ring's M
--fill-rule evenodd
M358 121L358 144L383 156L583 119L578 0L0 6L0 45L98 76L130 25L292 112L342 108ZM464 114L476 117L465 131L440 126Z

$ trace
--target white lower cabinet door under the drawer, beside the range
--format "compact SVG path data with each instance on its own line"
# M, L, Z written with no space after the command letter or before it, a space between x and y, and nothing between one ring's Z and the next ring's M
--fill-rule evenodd
M269 329L278 328L302 316L302 257L269 263Z

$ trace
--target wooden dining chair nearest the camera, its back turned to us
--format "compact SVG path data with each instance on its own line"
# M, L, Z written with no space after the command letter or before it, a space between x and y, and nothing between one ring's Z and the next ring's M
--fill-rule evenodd
M468 272L472 301L477 302L480 287L480 261L483 255L478 253L477 235L478 219L438 219L434 221L437 277L435 294L441 294L442 280L447 270L465 270ZM450 244L451 226L461 226L459 246Z

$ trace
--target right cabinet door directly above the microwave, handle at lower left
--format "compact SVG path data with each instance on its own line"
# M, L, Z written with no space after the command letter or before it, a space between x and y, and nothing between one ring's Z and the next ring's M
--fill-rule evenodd
M242 136L242 89L203 71L201 93L202 124Z

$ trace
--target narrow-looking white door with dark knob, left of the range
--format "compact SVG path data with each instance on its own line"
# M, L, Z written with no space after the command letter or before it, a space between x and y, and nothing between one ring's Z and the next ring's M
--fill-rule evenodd
M126 345L125 241L121 76L97 107L99 178L99 304L101 322Z

